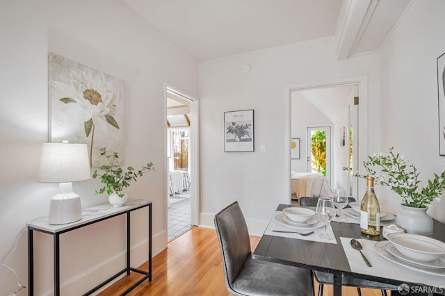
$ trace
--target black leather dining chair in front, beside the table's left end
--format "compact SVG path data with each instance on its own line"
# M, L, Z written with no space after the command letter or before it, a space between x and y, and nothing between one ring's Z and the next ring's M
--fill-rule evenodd
M252 258L238 202L215 215L227 290L233 295L314 295L312 271Z

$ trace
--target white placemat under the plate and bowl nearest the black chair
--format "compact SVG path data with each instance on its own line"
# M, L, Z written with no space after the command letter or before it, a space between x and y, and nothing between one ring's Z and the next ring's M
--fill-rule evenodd
M327 242L330 244L337 244L337 240L334 238L334 232L332 232L332 227L330 224L327 224L326 226L326 233L329 233L329 235L333 238L332 240L325 240L323 238L319 238L318 234L323 233L324 227L320 227L317 229L305 229L304 227L298 227L298 229L293 227L286 227L285 225L282 225L278 223L275 220L276 215L282 214L282 211L276 211L273 215L272 219L270 220L266 231L264 231L264 234L267 234L268 236L282 236L284 238L298 238L299 240L312 240L314 242ZM309 231L314 231L310 236L300 236L298 233L282 233L282 232L273 232L273 230L281 230L281 231L298 231L301 233L308 233Z

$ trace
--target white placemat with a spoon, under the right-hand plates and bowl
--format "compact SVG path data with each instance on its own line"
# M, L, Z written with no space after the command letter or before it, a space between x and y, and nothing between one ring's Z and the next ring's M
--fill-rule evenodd
M375 277L385 277L387 279L398 279L410 283L424 283L430 286L444 287L445 277L426 274L421 271L405 268L402 265L391 262L375 251L375 241L359 239L362 244L362 252L369 262L373 265L371 268L364 263L362 255L356 249L350 246L350 238L340 238L343 250L348 258L350 270L357 273L369 274Z

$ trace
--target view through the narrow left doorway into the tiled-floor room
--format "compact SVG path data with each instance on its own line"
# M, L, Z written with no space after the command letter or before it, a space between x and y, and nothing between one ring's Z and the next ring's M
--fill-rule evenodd
M191 99L167 88L168 241L193 227L190 118Z

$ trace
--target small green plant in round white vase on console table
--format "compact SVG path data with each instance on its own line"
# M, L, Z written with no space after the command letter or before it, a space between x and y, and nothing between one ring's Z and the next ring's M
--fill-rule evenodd
M121 167L115 165L116 158L119 158L118 152L113 154L106 154L106 148L100 149L100 155L105 156L108 160L108 165L102 165L100 167L103 170L103 174L99 174L97 170L92 174L94 179L100 178L101 182L106 184L104 187L95 191L95 195L107 193L110 195L108 200L114 206L122 206L127 200L127 195L122 193L124 188L130 186L131 181L138 181L138 177L143 176L145 172L153 171L153 163L147 163L143 165L140 170L136 171L133 167L127 167L127 172L124 172Z

